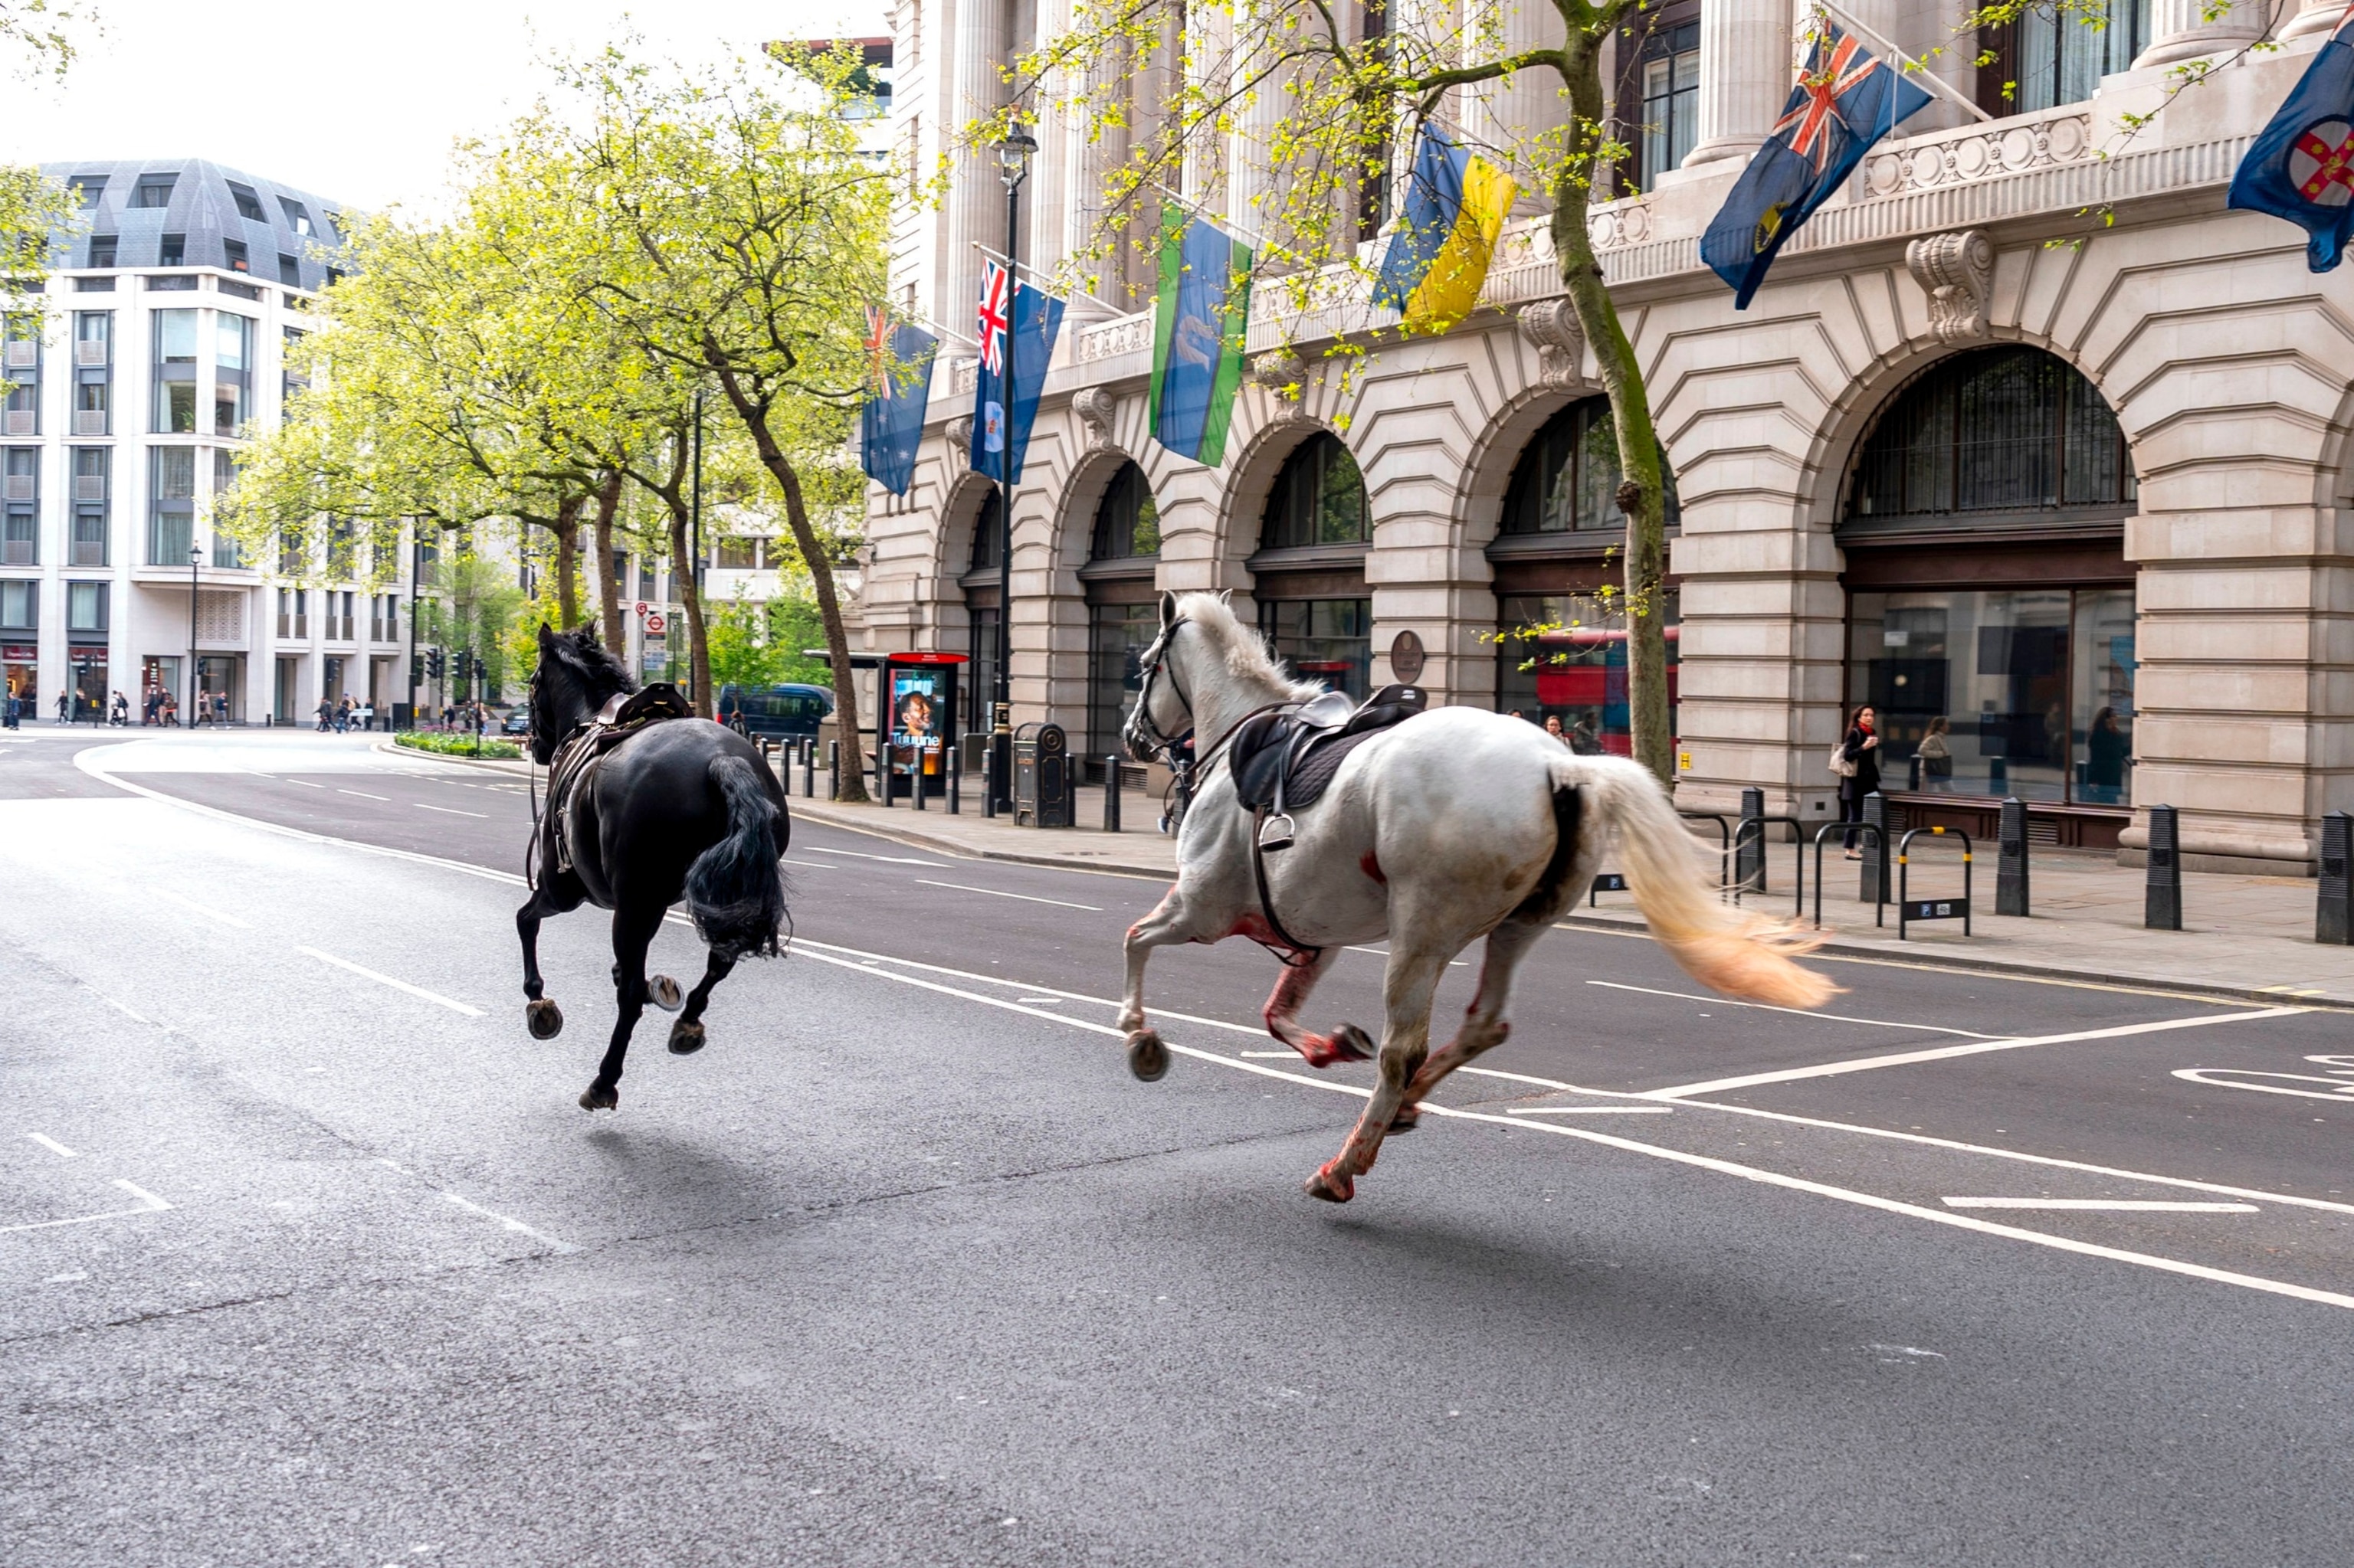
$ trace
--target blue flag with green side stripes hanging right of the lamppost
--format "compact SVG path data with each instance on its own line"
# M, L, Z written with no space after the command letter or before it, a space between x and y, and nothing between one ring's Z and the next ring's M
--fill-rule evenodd
M1250 247L1182 207L1161 207L1161 308L1153 318L1153 440L1215 469L1226 457L1250 327Z

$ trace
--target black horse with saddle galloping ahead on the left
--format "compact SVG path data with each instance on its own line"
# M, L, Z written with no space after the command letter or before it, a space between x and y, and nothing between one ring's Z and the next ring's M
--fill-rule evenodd
M621 662L588 629L539 629L539 671L532 676L532 760L558 760L560 746L596 746L596 720L617 695L636 690ZM659 690L659 687L657 687ZM652 695L652 692L650 692ZM610 718L610 716L607 716ZM600 751L586 768L579 753L551 775L548 805L532 826L532 899L516 911L523 935L525 1022L551 1041L565 1015L539 979L539 921L584 902L612 911L612 984L621 1015L596 1081L581 1090L584 1111L621 1102L621 1057L645 1003L678 1008L678 984L645 975L645 949L664 913L680 897L694 930L711 946L704 979L671 1024L671 1052L704 1048L704 1005L737 958L777 951L784 923L784 871L777 857L793 824L784 789L742 735L720 725L673 718L645 723ZM563 782L572 779L567 789ZM563 789L563 793L558 793Z

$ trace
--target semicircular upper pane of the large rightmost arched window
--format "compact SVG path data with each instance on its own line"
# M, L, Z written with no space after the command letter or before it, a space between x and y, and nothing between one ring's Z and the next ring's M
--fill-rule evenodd
M1973 348L1926 370L1855 459L1846 527L1930 518L2116 518L2133 459L2107 400L2041 348Z

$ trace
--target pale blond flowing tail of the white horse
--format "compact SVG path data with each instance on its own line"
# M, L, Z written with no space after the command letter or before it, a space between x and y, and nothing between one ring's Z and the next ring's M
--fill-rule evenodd
M1777 1008L1820 1008L1838 994L1824 975L1791 963L1820 946L1820 935L1716 897L1690 829L1645 768L1612 756L1558 758L1554 789L1577 784L1591 791L1601 822L1617 829L1627 890L1650 935L1693 979Z

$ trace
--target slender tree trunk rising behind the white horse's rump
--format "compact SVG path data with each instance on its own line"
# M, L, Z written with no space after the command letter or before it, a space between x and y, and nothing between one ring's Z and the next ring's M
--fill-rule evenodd
M1650 424L1643 365L1620 325L1603 268L1587 233L1594 148L1603 141L1605 104L1601 42L1605 31L1570 28L1563 78L1570 115L1584 158L1568 158L1554 177L1554 254L1561 285L1577 311L1577 325L1603 372L1610 419L1620 445L1620 511L1627 513L1627 720L1634 758L1676 786L1676 739L1667 713L1667 487L1660 473L1660 438Z

